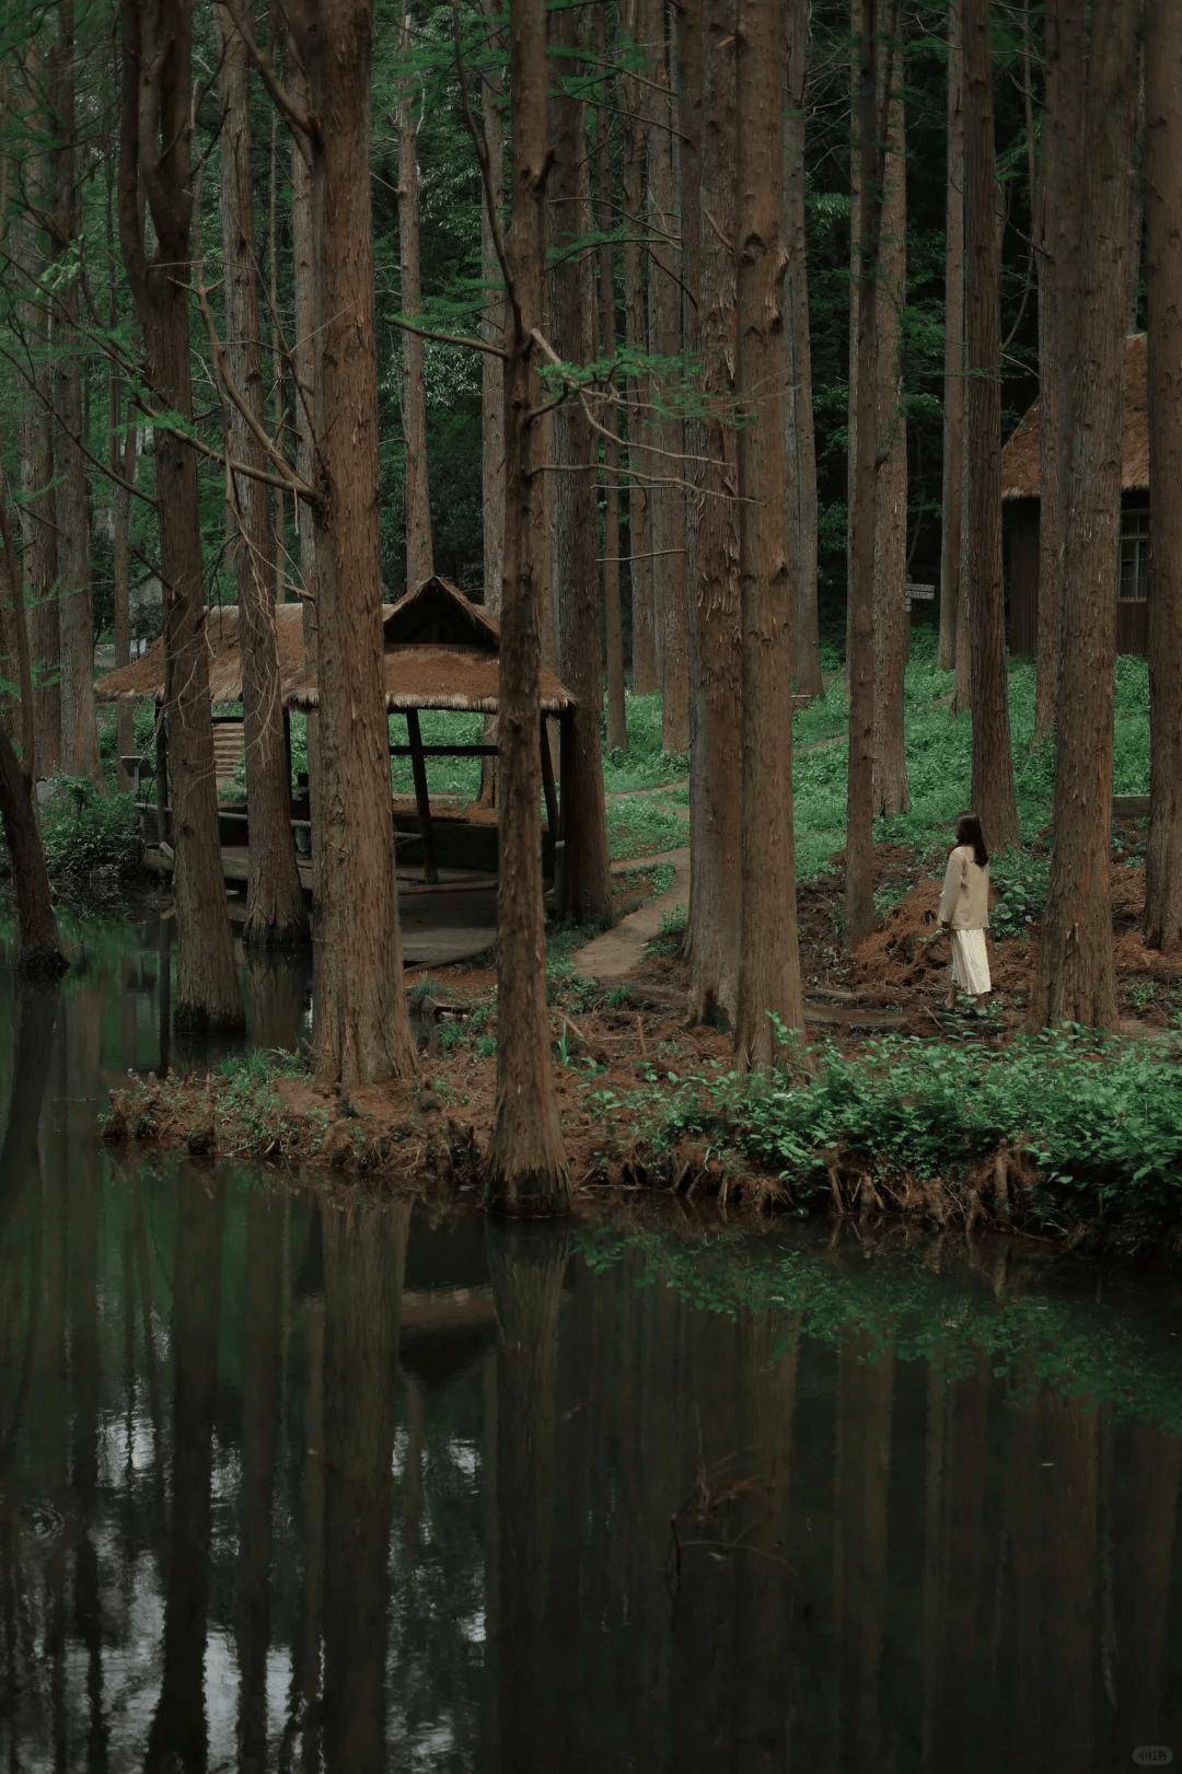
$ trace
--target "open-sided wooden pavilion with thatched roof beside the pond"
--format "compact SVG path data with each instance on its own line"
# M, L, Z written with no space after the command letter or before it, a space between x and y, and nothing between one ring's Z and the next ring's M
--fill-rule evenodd
M284 729L291 729L291 711L311 718L319 706L316 671L309 669L303 642L302 603L275 607L279 642L280 694L284 703ZM206 644L209 653L209 699L218 706L241 704L243 671L238 644L238 608L215 607L206 612ZM458 797L433 797L428 791L429 757L493 757L495 745L483 738L474 743L426 745L421 731L424 710L449 710L495 715L500 699L500 628L497 621L472 603L449 580L433 577L412 587L398 603L382 607L382 649L385 672L385 703L392 715L406 718L406 743L392 742L392 757L408 757L414 777L414 795L390 795L390 818L398 834L399 883L406 887L414 875L429 885L445 880L485 880L497 869L497 816L492 807L465 804ZM163 640L147 653L106 672L96 683L101 703L151 701L160 708L165 697ZM541 672L541 752L547 823L543 834L543 862L547 873L556 867L561 841L563 800L570 781L563 765L570 763L573 697L554 672ZM241 715L215 713L215 772L218 782L218 827L222 860L227 882L247 876L247 846L250 843L248 802L227 793L243 750ZM547 724L559 729L561 779L552 768L554 750ZM140 807L146 855L149 864L170 869L170 802L167 729L156 722L156 756L128 757ZM566 809L570 811L570 809ZM311 891L314 809L307 784L293 788L291 825L300 862L300 878Z

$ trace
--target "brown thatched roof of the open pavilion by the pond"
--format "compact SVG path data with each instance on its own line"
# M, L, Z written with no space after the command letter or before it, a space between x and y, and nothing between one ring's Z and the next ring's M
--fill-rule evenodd
M479 603L445 578L426 578L396 603L382 605L385 701L392 711L451 708L495 715L500 701L500 626ZM238 607L206 610L209 701L241 703ZM303 660L303 605L275 605L279 678L284 704L316 708L319 683ZM162 703L163 639L130 665L105 672L94 694L101 703ZM561 713L573 697L550 671L541 672L541 708Z

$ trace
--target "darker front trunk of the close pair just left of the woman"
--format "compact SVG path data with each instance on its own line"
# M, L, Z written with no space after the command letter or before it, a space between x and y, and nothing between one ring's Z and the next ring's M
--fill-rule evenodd
M873 930L875 844L875 534L879 449L879 25L877 0L852 0L857 101L852 170L855 172L850 314L850 495L848 616L850 754L845 814L845 940L854 949Z

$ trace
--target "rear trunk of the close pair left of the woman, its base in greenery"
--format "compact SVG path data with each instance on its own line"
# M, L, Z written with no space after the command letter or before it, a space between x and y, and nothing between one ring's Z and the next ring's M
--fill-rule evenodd
M900 34L898 0L886 28ZM882 92L886 167L879 252L879 477L875 491L875 814L907 812L907 417L903 413L902 321L907 302L907 135L903 46L891 55L891 90Z

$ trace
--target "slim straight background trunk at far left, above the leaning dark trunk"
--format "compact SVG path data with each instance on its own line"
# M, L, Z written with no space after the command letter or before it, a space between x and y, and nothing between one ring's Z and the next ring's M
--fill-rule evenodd
M25 87L37 94L44 67L37 44L25 53ZM28 128L48 133L41 106L30 101ZM50 154L32 153L25 163L28 218L20 225L16 250L28 284L46 268L44 231L34 220L50 209ZM53 358L48 309L35 296L21 302L21 326L32 357L34 389L21 426L21 532L23 569L30 591L28 648L34 671L34 757L25 763L39 777L62 768L60 621L57 607L57 493L53 486Z

